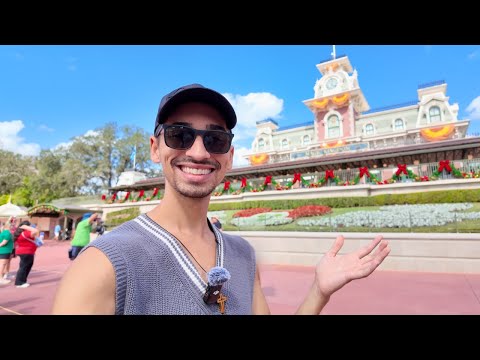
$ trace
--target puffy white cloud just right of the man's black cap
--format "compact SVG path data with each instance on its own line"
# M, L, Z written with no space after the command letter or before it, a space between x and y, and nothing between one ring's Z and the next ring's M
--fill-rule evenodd
M223 94L237 113L234 141L254 137L257 121L266 118L278 119L283 110L283 100L267 92L247 95Z

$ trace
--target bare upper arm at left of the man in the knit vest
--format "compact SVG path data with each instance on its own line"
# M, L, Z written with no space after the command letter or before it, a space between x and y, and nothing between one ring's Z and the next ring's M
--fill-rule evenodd
M105 254L90 247L75 259L57 289L52 314L115 314L115 272Z

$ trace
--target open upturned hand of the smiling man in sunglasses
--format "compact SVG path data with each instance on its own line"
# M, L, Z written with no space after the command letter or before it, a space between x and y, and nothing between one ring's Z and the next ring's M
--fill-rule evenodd
M337 236L332 248L316 267L315 283L320 294L328 298L350 281L370 275L390 253L388 242L382 239L377 235L370 244L357 251L338 255L345 239L342 235Z

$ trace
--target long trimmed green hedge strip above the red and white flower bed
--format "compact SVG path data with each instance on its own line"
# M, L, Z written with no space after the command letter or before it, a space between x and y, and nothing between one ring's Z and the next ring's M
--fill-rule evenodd
M273 210L289 210L303 205L326 205L332 208L480 202L480 190L428 191L409 194L385 194L370 197L337 197L301 200L259 200L228 203L211 203L209 211L242 210L269 207Z

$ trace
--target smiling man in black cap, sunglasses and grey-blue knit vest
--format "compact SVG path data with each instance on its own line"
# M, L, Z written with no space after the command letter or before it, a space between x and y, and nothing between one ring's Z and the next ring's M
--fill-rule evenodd
M207 217L210 196L232 167L236 122L228 100L199 84L162 98L150 138L151 159L165 175L162 201L82 251L53 314L270 313L252 246ZM297 313L319 314L336 290L372 273L390 251L381 240L336 256L339 236Z

